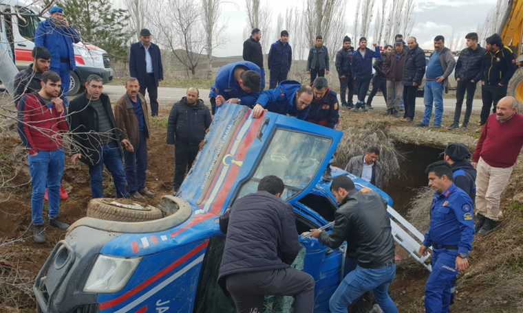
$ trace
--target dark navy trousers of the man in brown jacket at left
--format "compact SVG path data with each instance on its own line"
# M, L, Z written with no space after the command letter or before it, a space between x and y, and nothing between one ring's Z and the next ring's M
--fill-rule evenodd
M134 152L123 151L125 159L125 177L129 193L145 188L145 170L147 170L147 141L145 134L140 133L140 145Z

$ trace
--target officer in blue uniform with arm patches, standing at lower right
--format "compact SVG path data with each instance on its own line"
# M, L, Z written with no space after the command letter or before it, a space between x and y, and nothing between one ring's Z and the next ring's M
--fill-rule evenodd
M430 228L418 253L427 255L432 246L432 273L425 285L425 311L449 312L451 281L459 270L469 268L467 255L474 235L472 199L452 183L452 168L445 161L427 167L434 189Z

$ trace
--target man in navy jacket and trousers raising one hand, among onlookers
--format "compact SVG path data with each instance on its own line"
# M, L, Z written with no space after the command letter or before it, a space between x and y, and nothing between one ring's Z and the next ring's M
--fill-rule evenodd
M359 40L359 48L356 49L352 56L352 76L354 78L354 90L358 95L358 102L352 108L352 112L358 112L361 108L367 112L369 109L365 106L365 96L369 91L370 80L372 79L372 58L379 58L380 51L376 45L374 51L367 48L367 38L361 37Z

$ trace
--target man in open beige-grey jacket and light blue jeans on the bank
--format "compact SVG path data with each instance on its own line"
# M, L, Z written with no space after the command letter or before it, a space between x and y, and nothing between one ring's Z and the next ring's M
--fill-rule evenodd
M443 91L449 84L449 76L456 66L456 60L452 51L445 47L445 37L436 36L434 38L434 52L430 55L429 65L425 72L425 114L420 123L414 124L417 127L441 128L441 118L443 116ZM432 106L434 104L434 125L429 126L432 116Z

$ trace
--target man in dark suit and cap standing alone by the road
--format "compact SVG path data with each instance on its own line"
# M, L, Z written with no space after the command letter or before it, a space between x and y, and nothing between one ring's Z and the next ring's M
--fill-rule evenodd
M160 48L151 43L151 32L140 30L140 41L131 45L129 72L138 79L140 93L145 97L145 89L151 100L151 116L158 116L158 82L163 80L162 55Z

